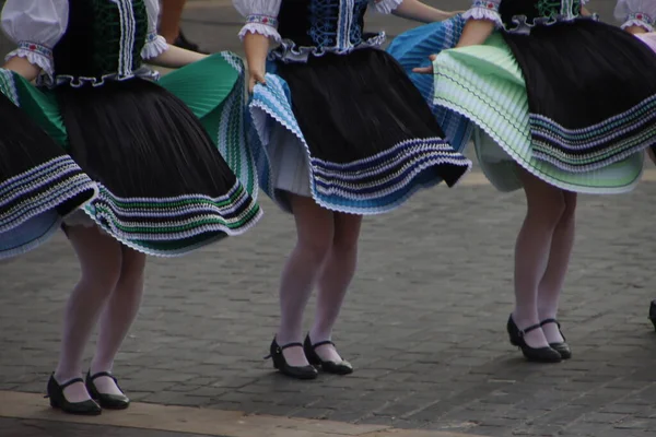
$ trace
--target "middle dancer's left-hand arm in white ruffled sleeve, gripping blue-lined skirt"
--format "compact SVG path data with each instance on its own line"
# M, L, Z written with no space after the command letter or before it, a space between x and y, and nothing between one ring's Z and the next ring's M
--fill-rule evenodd
M233 0L235 9L246 19L239 38L244 42L246 51L250 92L256 84L266 84L269 39L280 43L278 33L280 3L281 0Z

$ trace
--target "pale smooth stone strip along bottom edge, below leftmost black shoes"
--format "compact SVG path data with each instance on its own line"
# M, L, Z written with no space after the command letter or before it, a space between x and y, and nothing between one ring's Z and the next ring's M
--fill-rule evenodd
M246 415L243 412L132 403L127 411L104 411L94 417L60 414L45 406L38 394L0 391L0 437L214 436L214 437L476 437L450 432L395 429L331 421ZM91 425L91 426L90 426Z

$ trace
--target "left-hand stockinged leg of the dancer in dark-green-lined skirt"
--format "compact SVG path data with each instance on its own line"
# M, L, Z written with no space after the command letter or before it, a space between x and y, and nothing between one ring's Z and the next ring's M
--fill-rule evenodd
M82 375L84 346L118 283L121 267L120 244L97 227L72 226L68 236L82 273L69 297L63 318L61 352L55 371L55 379L60 385ZM67 387L65 395L69 402L90 399L83 383Z

